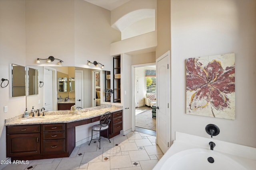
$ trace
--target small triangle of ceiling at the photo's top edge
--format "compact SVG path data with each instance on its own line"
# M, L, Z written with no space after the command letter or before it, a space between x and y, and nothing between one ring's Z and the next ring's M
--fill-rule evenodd
M100 6L102 8L105 8L111 11L117 8L118 6L125 4L130 0L84 0L84 1L90 2L91 4Z

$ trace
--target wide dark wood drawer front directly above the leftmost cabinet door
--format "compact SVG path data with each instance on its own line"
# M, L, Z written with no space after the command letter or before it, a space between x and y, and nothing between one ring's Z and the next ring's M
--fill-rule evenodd
M7 126L7 134L40 133L40 125Z

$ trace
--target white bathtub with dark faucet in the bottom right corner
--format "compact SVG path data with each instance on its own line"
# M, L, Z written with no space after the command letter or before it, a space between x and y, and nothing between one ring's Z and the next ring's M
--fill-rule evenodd
M216 144L214 150L210 141ZM176 132L153 170L256 170L256 148Z

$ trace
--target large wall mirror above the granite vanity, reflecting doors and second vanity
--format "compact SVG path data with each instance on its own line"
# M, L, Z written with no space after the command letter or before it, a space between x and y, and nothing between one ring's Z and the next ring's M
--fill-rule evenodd
M27 96L29 110L32 106L48 111L70 110L73 105L88 108L105 102L104 71L72 66L37 67L38 81L44 81L44 86L39 88L38 98Z

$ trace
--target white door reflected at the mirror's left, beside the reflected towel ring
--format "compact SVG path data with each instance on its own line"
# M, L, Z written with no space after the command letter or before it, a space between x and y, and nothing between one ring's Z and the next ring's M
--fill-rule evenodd
M52 70L44 69L44 108L53 111L53 81Z

